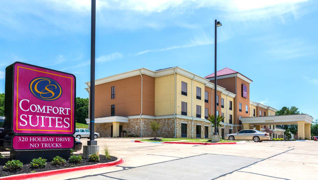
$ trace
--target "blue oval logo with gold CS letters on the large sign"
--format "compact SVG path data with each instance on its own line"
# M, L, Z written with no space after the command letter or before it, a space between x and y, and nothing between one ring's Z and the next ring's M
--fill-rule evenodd
M56 100L62 95L62 88L58 82L47 77L38 77L29 84L31 93L41 100Z

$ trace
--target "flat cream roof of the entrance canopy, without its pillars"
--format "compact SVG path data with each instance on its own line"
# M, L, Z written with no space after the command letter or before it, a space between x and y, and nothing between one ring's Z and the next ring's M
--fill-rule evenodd
M260 116L260 117L241 117L239 118L243 123L250 123L251 125L288 125L298 124L297 121L304 121L305 124L311 124L313 118L308 114L293 114L280 116Z

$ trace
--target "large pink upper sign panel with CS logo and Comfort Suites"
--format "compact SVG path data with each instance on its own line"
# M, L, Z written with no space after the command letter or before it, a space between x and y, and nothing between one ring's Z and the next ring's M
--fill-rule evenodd
M14 64L13 132L73 134L74 98L74 75Z

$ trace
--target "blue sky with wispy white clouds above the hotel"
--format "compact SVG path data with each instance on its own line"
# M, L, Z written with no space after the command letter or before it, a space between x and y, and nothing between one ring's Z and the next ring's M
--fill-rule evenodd
M318 118L318 2L97 0L96 79L180 66L200 76L229 67L253 80L250 100ZM26 62L75 74L88 97L90 1L0 2L0 93L5 67Z

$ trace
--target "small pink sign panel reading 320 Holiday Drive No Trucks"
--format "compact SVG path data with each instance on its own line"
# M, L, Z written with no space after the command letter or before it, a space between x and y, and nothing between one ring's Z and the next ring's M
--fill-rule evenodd
M12 148L14 150L72 149L74 141L74 136L15 135L12 138Z

